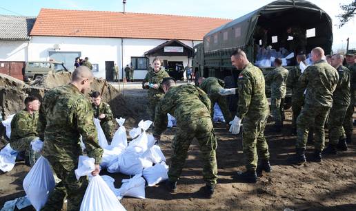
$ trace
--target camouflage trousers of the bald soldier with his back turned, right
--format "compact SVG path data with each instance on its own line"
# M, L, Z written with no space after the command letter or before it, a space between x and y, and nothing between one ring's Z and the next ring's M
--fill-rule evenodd
M328 116L330 108L315 107L310 104L305 104L303 110L297 118L297 148L306 148L308 141L308 129L314 126L314 148L317 151L322 151L325 146L325 130L324 124Z

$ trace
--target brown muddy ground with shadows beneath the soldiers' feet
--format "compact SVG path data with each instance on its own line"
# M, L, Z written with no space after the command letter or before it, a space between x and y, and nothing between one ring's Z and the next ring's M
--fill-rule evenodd
M146 91L132 86L126 87L124 96L130 109L144 119L147 117L145 95ZM146 199L124 198L121 203L127 210L356 210L355 145L351 144L347 152L324 157L322 164L307 162L292 166L287 159L294 152L295 137L288 135L290 111L286 116L286 126L281 133L271 132L270 123L266 127L273 172L264 174L257 184L242 184L232 179L237 170L244 170L241 135L230 135L223 124L216 124L219 180L212 199L204 199L202 194L205 184L201 177L199 147L193 141L176 193L168 193L164 185L159 184L146 188ZM175 128L168 129L161 138L168 164L174 132ZM308 146L307 156L311 153L313 146ZM20 162L10 173L0 175L0 207L9 199L25 195L22 181L28 170ZM108 173L101 171L101 174ZM121 186L121 179L128 178L121 174L108 175L115 177L117 188Z

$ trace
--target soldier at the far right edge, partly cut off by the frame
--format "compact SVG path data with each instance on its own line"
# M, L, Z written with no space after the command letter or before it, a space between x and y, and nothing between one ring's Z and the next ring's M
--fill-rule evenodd
M350 144L353 140L353 112L356 104L356 50L350 49L346 53L347 68L350 70L350 105L346 111L344 120L344 130L346 142Z

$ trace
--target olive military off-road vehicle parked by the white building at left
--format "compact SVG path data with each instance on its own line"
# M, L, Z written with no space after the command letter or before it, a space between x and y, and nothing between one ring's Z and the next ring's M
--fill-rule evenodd
M29 61L25 67L25 81L41 79L49 71L68 71L62 62L57 61Z

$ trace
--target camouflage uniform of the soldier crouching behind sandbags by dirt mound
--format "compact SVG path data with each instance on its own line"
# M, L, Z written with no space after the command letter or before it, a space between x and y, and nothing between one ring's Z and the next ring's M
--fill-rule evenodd
M110 143L112 140L112 137L114 136L114 134L113 134L114 122L112 122L113 115L112 115L112 111L110 109L110 105L106 102L101 101L101 103L99 104L99 107L97 107L94 103L92 103L92 109L94 110L95 118L99 119L99 115L105 114L105 118L100 119L100 126L101 126L101 129L103 129L106 139Z

